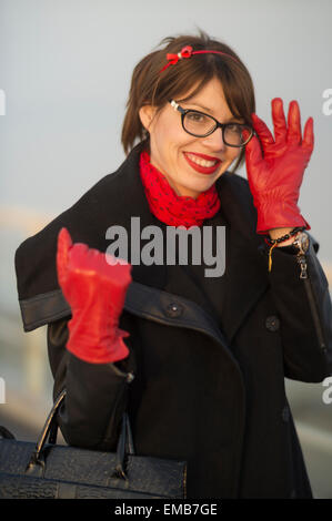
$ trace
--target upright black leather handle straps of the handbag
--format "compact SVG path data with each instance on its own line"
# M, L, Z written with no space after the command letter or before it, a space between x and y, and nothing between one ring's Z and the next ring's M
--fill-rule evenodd
M51 445L56 445L58 432L57 413L66 395L67 391L66 389L63 389L57 397L53 407L44 422L42 431L38 438L36 448L30 457L29 463L26 468L26 473L33 476L43 474L46 468L46 443L49 440ZM134 454L134 447L129 417L128 413L124 411L122 416L121 432L117 447L115 468L112 473L113 478L122 478L128 480L127 473L124 471L124 458L127 454Z

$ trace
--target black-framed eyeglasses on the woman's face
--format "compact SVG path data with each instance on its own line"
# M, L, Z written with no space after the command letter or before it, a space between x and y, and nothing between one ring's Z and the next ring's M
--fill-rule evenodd
M253 136L253 129L242 123L219 123L215 118L193 109L183 109L174 100L169 100L175 111L181 113L182 127L188 134L195 137L207 137L217 129L221 129L225 145L242 147Z

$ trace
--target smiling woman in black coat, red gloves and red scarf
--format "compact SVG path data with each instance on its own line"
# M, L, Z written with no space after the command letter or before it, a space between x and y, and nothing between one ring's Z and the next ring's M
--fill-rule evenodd
M275 99L273 137L232 49L163 44L133 72L124 163L18 248L24 328L48 324L68 443L114 450L127 409L137 453L188 461L188 498L311 498L284 377L332 368L328 283L296 205L312 119L302 137L296 102L286 122ZM249 182L230 172L244 154ZM167 263L174 226L200 232L187 264L179 245ZM210 246L224 269L207 276L193 257Z

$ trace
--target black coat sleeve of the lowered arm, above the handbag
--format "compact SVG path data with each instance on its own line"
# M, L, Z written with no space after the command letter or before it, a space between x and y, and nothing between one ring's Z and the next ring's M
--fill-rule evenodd
M115 450L133 378L132 354L114 364L89 364L66 349L68 335L68 319L48 325L53 397L67 390L58 415L63 438L71 446Z

